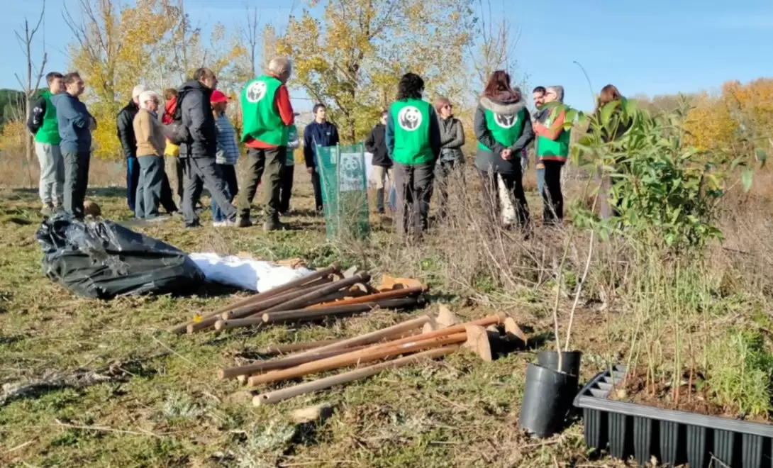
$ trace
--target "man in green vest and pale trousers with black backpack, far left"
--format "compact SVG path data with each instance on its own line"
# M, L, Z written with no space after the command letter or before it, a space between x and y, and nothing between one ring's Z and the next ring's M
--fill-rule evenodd
M62 207L64 198L64 159L59 148L59 124L56 123L56 107L51 97L64 91L62 73L51 72L46 75L49 89L40 93L29 110L27 127L35 135L35 153L40 163L40 201L43 202L43 215L53 215Z

